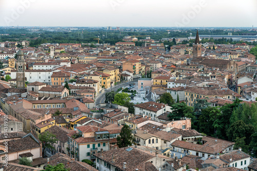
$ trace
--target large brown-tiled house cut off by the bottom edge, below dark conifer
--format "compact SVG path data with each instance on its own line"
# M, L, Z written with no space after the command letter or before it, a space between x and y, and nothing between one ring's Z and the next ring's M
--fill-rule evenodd
M151 150L151 151L150 151ZM155 153L156 152L156 153ZM164 171L168 170L168 161L173 159L158 154L158 151L145 146L130 146L114 149L112 151L95 154L96 168L99 170L148 170L148 171ZM136 160L135 160L136 159ZM172 163L170 163L172 164ZM181 170L186 168L182 167ZM180 170L180 169L177 169Z

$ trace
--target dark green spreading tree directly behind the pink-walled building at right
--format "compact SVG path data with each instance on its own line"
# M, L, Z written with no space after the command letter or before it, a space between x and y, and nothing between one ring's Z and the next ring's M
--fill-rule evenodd
M183 117L191 118L193 121L195 120L194 116L194 108L188 106L185 102L174 103L171 105L172 112L168 115L170 120L172 119L180 119ZM192 121L192 123L193 123Z

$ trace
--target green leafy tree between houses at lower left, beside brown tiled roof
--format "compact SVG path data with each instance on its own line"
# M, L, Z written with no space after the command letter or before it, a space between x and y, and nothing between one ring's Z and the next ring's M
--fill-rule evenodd
M54 150L52 144L58 141L58 139L56 139L56 135L50 133L49 131L41 133L39 135L39 140L42 142L43 156L46 156L45 152L47 148Z

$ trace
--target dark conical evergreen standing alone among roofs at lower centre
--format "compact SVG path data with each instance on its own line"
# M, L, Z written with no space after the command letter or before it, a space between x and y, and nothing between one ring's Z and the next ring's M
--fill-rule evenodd
M133 141L132 131L130 126L124 125L121 129L120 135L117 137L117 144L120 148L131 145Z

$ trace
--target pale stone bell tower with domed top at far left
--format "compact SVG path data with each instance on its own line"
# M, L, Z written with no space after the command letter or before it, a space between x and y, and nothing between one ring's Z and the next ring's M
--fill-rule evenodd
M24 59L24 54L21 50L17 52L16 59L16 88L25 89L25 70L26 62Z

